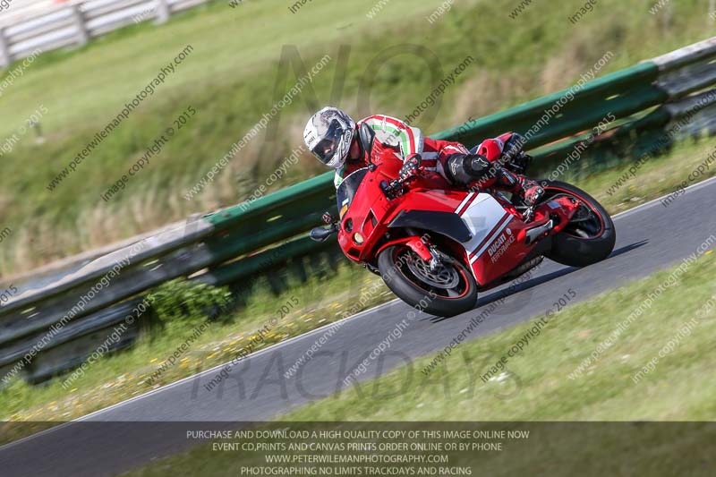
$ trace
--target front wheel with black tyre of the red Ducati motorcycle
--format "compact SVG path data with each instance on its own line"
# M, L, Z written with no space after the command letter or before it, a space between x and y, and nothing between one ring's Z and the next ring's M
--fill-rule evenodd
M431 315L451 317L474 308L477 284L460 260L436 270L406 245L394 245L378 257L380 276L401 300Z

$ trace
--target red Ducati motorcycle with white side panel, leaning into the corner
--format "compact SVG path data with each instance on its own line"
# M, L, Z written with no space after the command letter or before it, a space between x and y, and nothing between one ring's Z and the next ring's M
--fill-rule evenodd
M427 171L401 181L401 166L383 158L345 177L339 219L327 214L329 226L314 228L311 238L323 242L337 232L348 259L427 313L472 310L478 292L519 277L543 257L584 267L614 248L607 211L568 183L541 181L544 197L527 210L497 191L447 190L444 182L436 189L440 181Z

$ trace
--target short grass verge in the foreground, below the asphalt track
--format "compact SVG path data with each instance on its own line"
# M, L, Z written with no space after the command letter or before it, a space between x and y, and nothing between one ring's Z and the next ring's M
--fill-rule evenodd
M497 379L482 382L475 375L488 371L490 363L507 353L533 323L464 343L427 377L420 370L433 356L413 362L413 379L406 379L409 368L398 368L363 383L360 391L350 388L305 405L281 420L712 421L716 418L712 399L716 384L704 377L711 375L714 358L714 272L716 257L707 253L684 274L678 274L677 282L666 287L652 307L575 379L570 378L575 368L643 305L648 294L671 283L676 268L558 312ZM660 354L662 350L667 351ZM649 363L655 359L650 369ZM468 367L470 371L466 371ZM366 396L375 389L379 392ZM381 397L375 397L378 395ZM532 429L541 437L531 438L524 450L519 447L516 451L518 446L509 443L505 452L475 454L465 460L485 475L574 475L575 469L585 475L711 472L703 455L703 443L713 438L706 427L694 427L687 435L667 436L664 428L656 432L645 427L574 426L573 431L549 435L535 431L539 429L536 426ZM629 440L627 433L634 440ZM658 439L656 434L661 434ZM215 452L210 445L201 445L129 474L234 475L239 465L265 465L257 456L260 454Z

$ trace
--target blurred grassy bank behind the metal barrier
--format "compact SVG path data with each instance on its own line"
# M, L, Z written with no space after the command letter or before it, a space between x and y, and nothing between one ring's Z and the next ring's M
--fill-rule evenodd
M442 3L391 0L369 19L372 4L313 2L291 13L279 0L249 0L236 8L217 2L164 26L140 25L85 48L41 55L0 98L0 115L6 118L0 141L17 134L38 108L47 110L41 117L42 141L30 131L3 154L0 225L12 234L0 248L0 273L26 270L242 200L300 143L305 117L321 104L333 102L356 116L412 112L430 91L422 57L439 58L444 72L467 55L475 59L446 91L439 109L430 111L435 114L417 121L426 132L436 132L566 87L607 50L615 56L603 73L711 34L705 7L695 0L671 3L658 15L648 14L645 6L601 0L576 25L568 21L584 4L576 0L536 2L516 20L507 17L503 4L465 0L437 21L427 21ZM483 21L488 18L501 20ZM338 44L350 51L340 55ZM420 46L421 57L405 54L405 44ZM75 172L47 190L110 118L188 45L191 55L165 83ZM286 76L278 73L286 45L296 48L307 69L326 53L332 60L311 88L272 119L275 138L251 141L217 180L195 199L184 200L184 192L280 98L275 89L283 92L294 84L291 68ZM387 50L398 54L381 59L379 53ZM339 64L345 66L345 83L331 98ZM370 101L359 98L368 78L374 80ZM101 200L100 194L189 106L197 112L189 125L122 192ZM304 157L274 187L317 172L314 159Z

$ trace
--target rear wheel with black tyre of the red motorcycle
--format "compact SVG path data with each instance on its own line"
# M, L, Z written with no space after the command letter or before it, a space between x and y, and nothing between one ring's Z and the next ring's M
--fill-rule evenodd
M546 255L570 267L586 267L609 257L617 241L617 232L609 213L591 195L569 183L541 181L545 200L557 195L570 195L580 200L583 209L552 241Z

